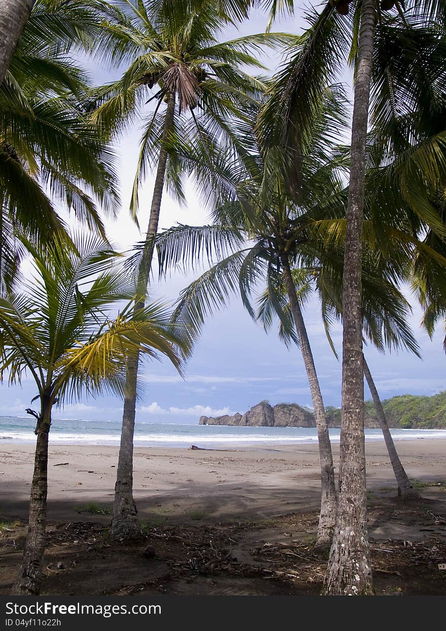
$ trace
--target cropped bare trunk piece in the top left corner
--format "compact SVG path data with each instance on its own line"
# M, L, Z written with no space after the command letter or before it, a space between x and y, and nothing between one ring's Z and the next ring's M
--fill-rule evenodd
M0 3L0 83L30 17L35 0L2 0Z

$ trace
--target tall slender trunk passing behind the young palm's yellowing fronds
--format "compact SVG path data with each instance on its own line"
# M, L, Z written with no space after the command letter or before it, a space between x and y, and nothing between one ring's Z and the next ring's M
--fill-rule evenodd
M169 95L166 118L164 120L163 139L159 150L158 166L155 177L155 185L152 196L152 206L147 227L146 247L140 265L138 278L138 295L146 295L147 283L152 266L155 246L155 237L158 230L159 211L161 198L163 197L164 177L168 151L165 143L173 128L175 109L175 94ZM144 308L144 298L135 304L134 310ZM129 357L127 375L125 379L125 398L122 415L122 432L119 449L117 480L115 485L115 504L113 507L113 519L111 535L115 540L130 540L141 536L141 528L137 518L137 509L133 498L133 439L135 430L135 411L137 397L137 375L139 365L139 353Z

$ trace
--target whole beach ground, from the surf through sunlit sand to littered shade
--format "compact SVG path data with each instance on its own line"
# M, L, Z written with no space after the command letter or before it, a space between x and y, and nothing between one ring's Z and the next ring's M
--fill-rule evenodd
M446 440L396 444L422 499L399 502L384 443L367 442L375 591L445 594ZM313 547L317 445L273 446L135 449L144 535L127 545L108 538L118 448L51 445L42 594L320 594L327 557ZM339 445L333 451L337 469ZM33 445L1 445L0 594L20 568L32 469Z

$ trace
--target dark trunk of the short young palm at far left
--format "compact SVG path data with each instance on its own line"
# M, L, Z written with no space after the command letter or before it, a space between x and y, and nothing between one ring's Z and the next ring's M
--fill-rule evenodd
M45 552L45 526L47 523L48 489L48 434L51 424L49 397L42 398L42 411L37 423L37 444L31 482L30 515L20 575L13 585L12 594L35 596L40 593L42 558Z

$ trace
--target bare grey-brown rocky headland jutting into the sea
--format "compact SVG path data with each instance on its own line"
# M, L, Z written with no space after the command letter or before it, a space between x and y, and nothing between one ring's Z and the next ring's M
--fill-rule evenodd
M315 427L314 416L297 403L279 403L272 407L268 401L254 405L242 416L200 416L200 425L244 425L249 427Z

